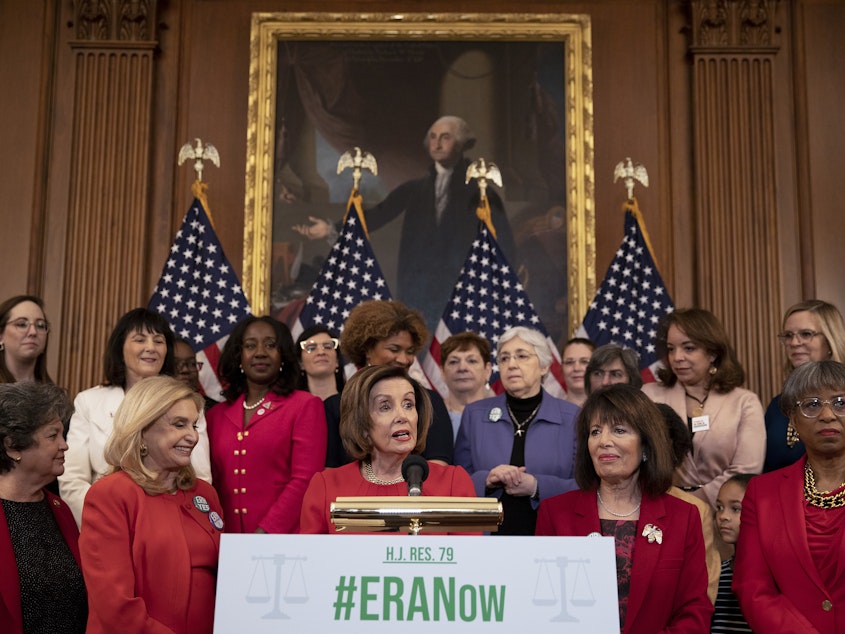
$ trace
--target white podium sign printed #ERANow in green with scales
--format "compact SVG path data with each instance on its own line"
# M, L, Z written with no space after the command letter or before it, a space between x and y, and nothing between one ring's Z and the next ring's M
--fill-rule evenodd
M216 634L397 626L618 634L613 538L222 536Z

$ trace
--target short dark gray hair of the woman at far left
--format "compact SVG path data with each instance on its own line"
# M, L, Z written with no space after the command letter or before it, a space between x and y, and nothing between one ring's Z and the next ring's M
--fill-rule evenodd
M57 385L35 381L0 384L0 473L15 466L6 449L25 451L35 446L39 428L55 420L67 426L72 413L67 392Z

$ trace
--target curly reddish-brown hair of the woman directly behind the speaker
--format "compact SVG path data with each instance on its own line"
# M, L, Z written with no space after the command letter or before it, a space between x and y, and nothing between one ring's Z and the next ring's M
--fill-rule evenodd
M411 335L415 354L428 341L428 328L418 311L396 301L361 302L343 325L340 350L360 368L367 365L367 353L379 341L400 332Z

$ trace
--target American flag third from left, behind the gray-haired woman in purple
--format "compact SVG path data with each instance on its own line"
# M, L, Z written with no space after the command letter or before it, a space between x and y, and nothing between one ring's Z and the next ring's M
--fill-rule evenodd
M448 393L438 363L441 342L453 334L471 330L485 337L493 348L493 375L490 377L490 385L494 391L501 393L504 388L499 381L496 343L499 335L514 326L527 326L546 336L553 361L543 387L550 394L563 397L566 392L563 388L560 353L546 333L531 300L505 259L498 242L490 234L488 227L479 222L478 235L470 247L452 298L437 324L434 338L423 360L423 370L434 389L443 396Z

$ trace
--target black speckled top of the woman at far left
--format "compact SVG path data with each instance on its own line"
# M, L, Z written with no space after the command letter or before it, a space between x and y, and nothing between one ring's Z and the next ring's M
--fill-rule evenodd
M18 565L23 631L82 634L88 620L85 582L49 502L2 503Z

